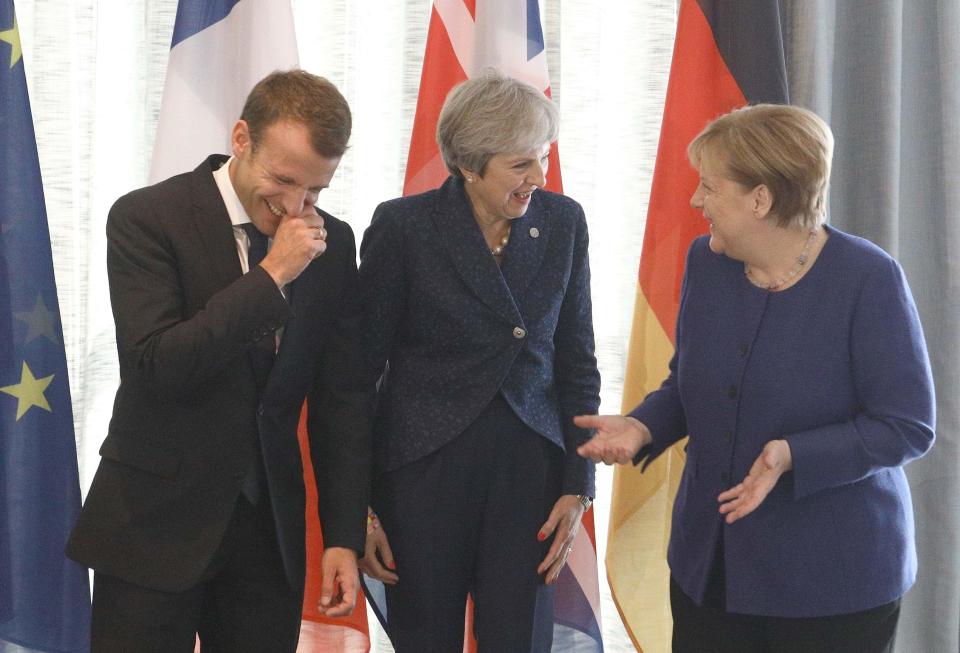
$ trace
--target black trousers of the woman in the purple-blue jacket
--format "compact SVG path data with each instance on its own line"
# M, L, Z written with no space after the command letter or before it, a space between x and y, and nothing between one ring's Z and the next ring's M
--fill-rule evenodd
M709 603L709 602L708 602ZM826 617L761 617L698 606L670 579L674 653L891 653L900 601Z

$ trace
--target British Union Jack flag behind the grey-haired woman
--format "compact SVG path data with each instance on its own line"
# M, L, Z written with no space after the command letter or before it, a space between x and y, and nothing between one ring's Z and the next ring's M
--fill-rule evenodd
M436 188L447 177L436 143L437 119L447 93L494 67L550 94L547 53L537 0L434 0L420 97L407 159L405 195ZM550 151L548 190L562 192L557 147ZM560 575L553 651L602 651L600 588L593 513L577 534Z

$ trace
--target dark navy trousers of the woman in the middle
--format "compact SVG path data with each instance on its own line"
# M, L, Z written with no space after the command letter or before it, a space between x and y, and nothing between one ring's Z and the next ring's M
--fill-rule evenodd
M398 653L460 653L473 596L481 653L549 651L553 587L537 533L560 496L562 452L497 396L454 441L377 480L400 582L387 586Z

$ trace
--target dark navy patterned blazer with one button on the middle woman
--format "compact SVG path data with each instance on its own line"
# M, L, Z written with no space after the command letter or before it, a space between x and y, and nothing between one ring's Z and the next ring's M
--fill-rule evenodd
M587 223L568 197L536 191L498 266L463 180L384 202L360 247L364 346L381 378L374 447L380 472L457 437L500 392L565 452L564 494L594 495L576 453L596 412Z

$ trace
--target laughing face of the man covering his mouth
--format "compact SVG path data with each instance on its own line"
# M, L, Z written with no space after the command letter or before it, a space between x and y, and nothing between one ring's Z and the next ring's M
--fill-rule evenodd
M237 121L231 135L230 181L250 220L273 236L284 215L300 215L330 185L340 158L317 154L304 125L278 122L263 130L256 147L246 122Z

